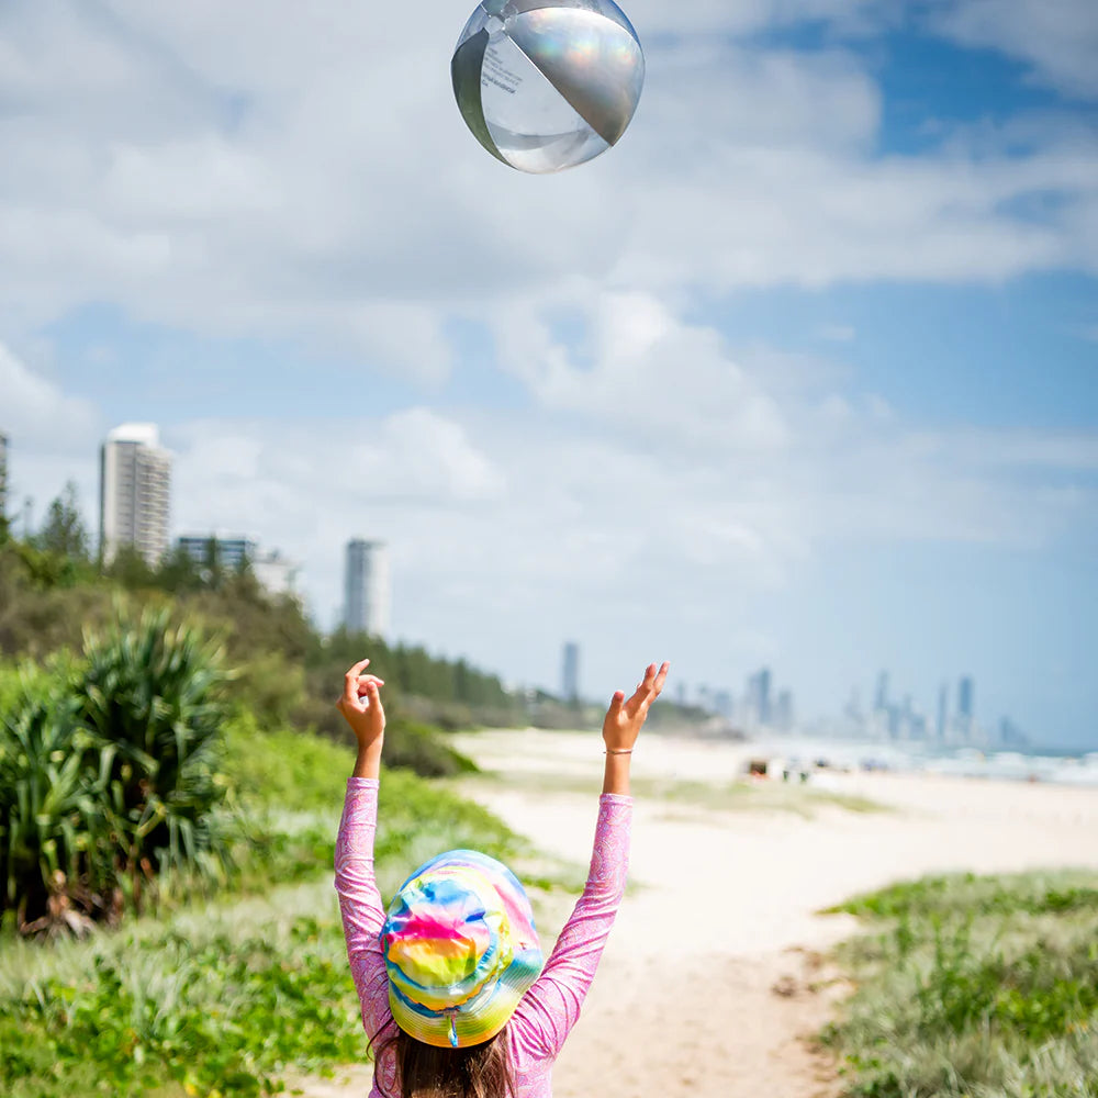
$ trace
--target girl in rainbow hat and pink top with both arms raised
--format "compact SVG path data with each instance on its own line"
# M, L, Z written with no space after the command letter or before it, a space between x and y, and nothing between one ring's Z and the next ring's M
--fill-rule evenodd
M369 660L346 674L338 708L358 760L336 840L347 955L374 1055L370 1098L550 1098L550 1073L580 1017L625 893L632 748L668 664L618 691L603 721L606 764L587 883L545 961L522 884L471 850L422 865L386 911L373 877L385 731Z

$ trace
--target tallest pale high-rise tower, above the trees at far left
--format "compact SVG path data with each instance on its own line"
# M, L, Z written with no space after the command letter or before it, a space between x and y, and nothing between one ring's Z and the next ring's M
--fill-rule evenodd
M99 547L104 561L131 546L155 564L168 548L171 455L155 424L127 423L100 451Z

